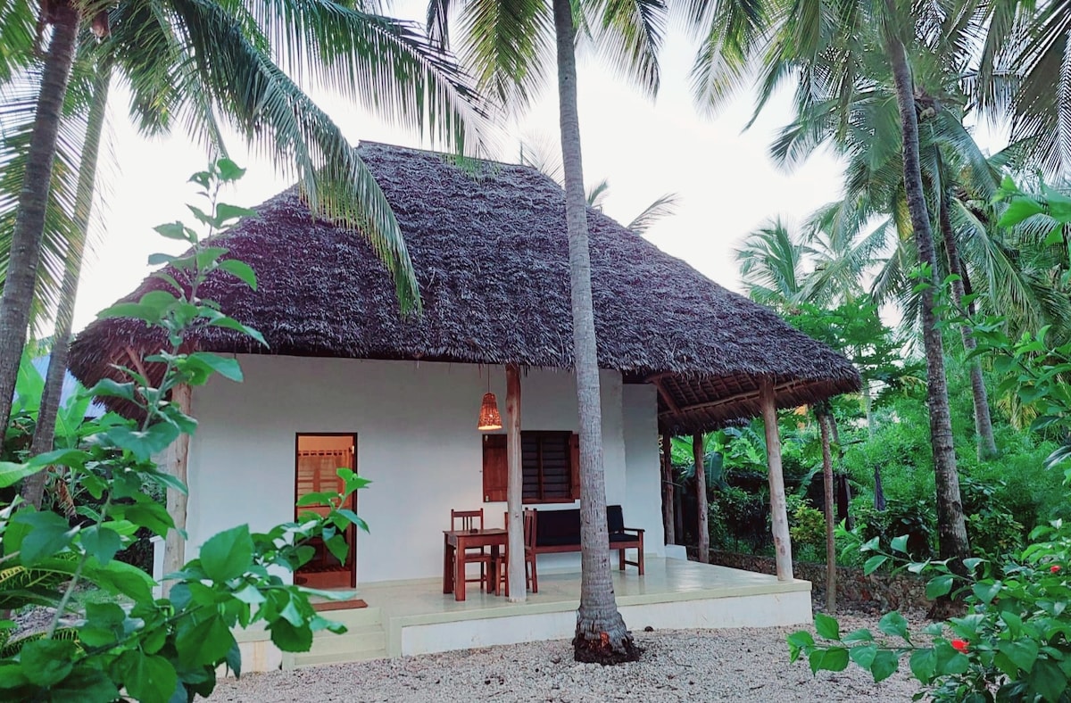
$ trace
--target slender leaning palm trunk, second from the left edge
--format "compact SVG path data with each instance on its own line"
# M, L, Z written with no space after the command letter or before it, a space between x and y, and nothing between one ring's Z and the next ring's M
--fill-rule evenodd
M93 85L92 104L86 124L86 142L81 148L81 164L78 167L78 190L75 196L74 238L67 251L66 270L63 273L63 289L60 292L59 309L56 312L56 333L52 351L48 357L48 373L41 393L41 408L37 424L33 428L33 443L30 455L50 452L56 437L56 413L60 407L63 377L66 375L67 352L71 346L71 324L74 320L74 304L78 295L78 278L81 276L82 254L89 232L89 215L93 208L93 190L96 183L96 162L101 147L101 132L108 106L108 86L111 81L111 66L102 60ZM41 507L47 472L40 471L22 484L22 498L34 507Z

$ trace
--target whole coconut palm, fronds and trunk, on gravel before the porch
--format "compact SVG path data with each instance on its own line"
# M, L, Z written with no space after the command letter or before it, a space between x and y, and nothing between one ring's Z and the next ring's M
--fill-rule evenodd
M449 3L444 0L432 0L427 12L428 30L443 46L448 45L450 35L448 9ZM549 47L556 50L573 363L580 426L582 576L573 645L575 657L582 661L632 660L638 652L617 609L609 571L599 360L576 101L577 24L585 35L599 40L599 47L615 66L653 93L659 85L657 51L663 11L661 0L614 0L575 5L569 0L552 0L549 4L540 0L469 0L459 7L466 27L462 57L473 70L478 85L493 91L508 105L525 105L545 78ZM511 549L511 554L515 551ZM517 566L519 568L521 564Z

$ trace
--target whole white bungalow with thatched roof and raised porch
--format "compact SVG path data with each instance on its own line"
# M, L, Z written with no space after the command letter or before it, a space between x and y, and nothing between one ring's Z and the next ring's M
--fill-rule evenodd
M216 379L193 393L186 556L236 523L267 530L292 519L296 499L352 465L373 480L356 505L371 532L353 536L345 564L325 555L296 578L356 586L367 608L332 613L351 632L318 638L285 666L570 637L578 554L541 555L539 592L525 602L478 586L458 601L439 587L451 508L482 507L486 526L503 524L507 487L484 471L492 442L477 416L488 391L506 399L508 367L522 376L524 503L576 506L562 449L578 428L563 193L528 167L461 169L441 154L372 143L359 153L405 234L423 312L399 317L371 247L315 220L293 190L217 238L254 268L259 290L221 277L200 293L270 348L218 327L192 338L237 355L245 381ZM810 584L791 578L780 460L771 457L779 577L696 564L664 544L659 435L853 391L858 373L603 214L590 211L589 221L606 498L647 535L646 574L614 571L625 622L809 622ZM160 285L148 278L132 297ZM154 339L135 321L95 322L74 345L72 368L91 384L114 373L110 364L152 353ZM247 648L257 657L248 669L281 661L262 643Z

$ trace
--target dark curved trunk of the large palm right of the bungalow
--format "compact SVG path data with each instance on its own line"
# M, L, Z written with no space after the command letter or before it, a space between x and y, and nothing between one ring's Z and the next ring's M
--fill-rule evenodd
M892 11L891 0L886 4ZM952 421L948 407L948 384L945 378L945 357L941 332L934 314L933 276L937 271L933 232L930 228L930 213L922 189L922 172L919 168L919 123L915 114L915 96L907 54L901 40L886 30L886 49L892 65L892 76L896 86L896 105L904 152L904 189L907 208L911 214L911 228L919 249L919 260L930 269L931 284L922 291L922 340L926 356L926 401L930 406L930 442L934 455L934 472L937 484L937 535L942 559L956 562L969 555L967 529L963 518L963 502L960 496L960 476L955 468L955 448L952 444Z

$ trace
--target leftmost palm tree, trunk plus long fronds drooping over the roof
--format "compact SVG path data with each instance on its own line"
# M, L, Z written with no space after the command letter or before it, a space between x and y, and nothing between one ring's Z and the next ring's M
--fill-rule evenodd
M18 203L0 300L0 427L10 413L26 339L60 106L84 6L90 5L59 0L48 3L42 17L52 36L27 156L29 187ZM291 72L307 72L396 122L461 149L477 136L480 100L467 77L416 27L333 2L296 0L118 3L108 15L95 13L91 19L102 35L110 26L109 50L131 85L135 107L157 108L148 110L155 117L142 120L142 129L164 129L181 119L217 142L216 118L225 119L251 144L273 155L284 174L297 178L317 215L367 238L396 281L403 310L419 308L412 264L382 192L334 122L272 59L285 57ZM310 62L308 56L318 59Z

